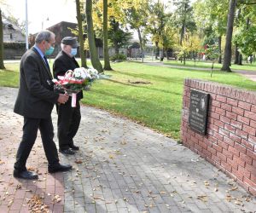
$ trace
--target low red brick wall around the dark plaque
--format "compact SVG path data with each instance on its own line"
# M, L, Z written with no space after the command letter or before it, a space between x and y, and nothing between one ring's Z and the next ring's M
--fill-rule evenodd
M210 94L207 135L188 125L190 89ZM256 195L256 93L186 79L181 123L183 145L206 158Z

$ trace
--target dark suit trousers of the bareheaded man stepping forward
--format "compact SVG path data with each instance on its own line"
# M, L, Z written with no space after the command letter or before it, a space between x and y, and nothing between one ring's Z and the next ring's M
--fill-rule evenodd
M26 170L26 160L36 141L38 129L41 133L44 153L49 165L59 163L57 148L53 141L54 128L51 117L45 119L24 117L23 135L16 154L15 170Z

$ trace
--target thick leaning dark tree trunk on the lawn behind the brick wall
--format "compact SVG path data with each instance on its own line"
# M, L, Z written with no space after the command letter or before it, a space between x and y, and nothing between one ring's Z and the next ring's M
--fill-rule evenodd
M236 9L236 0L230 0L230 9L229 9L227 32L226 32L226 44L225 44L225 50L224 50L224 60L223 60L223 66L221 68L222 71L226 71L226 72L231 72L230 70L230 63L231 63L231 56L232 56L231 41L232 41L232 34L233 34L235 9Z

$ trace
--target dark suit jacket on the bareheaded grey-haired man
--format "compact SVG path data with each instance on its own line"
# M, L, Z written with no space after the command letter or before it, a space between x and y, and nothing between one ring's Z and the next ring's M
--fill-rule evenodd
M49 85L52 75L38 50L32 47L20 60L20 89L14 112L27 118L49 118L59 95Z

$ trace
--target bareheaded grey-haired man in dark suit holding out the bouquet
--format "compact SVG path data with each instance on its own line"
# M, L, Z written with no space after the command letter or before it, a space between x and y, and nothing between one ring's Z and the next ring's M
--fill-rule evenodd
M14 176L37 179L36 173L26 170L26 160L40 130L44 152L48 160L49 173L71 170L72 166L59 163L51 112L55 103L65 104L67 95L54 92L49 64L45 55L52 54L55 34L39 32L32 49L26 51L20 60L20 89L14 112L24 117L23 135L16 155Z

